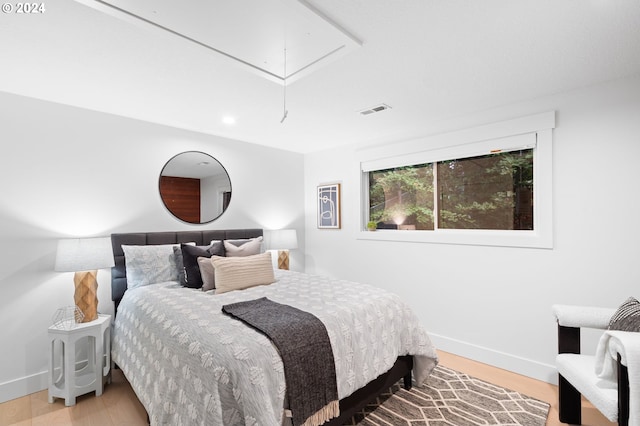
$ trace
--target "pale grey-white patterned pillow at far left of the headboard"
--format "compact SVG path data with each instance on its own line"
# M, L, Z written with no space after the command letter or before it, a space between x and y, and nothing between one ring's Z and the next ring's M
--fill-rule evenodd
M175 246L180 247L180 244L123 245L127 288L178 281L178 267L173 252Z

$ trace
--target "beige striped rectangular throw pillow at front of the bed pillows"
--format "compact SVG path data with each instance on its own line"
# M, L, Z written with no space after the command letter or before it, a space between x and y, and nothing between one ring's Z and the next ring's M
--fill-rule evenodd
M216 294L275 282L271 252L245 257L212 256Z

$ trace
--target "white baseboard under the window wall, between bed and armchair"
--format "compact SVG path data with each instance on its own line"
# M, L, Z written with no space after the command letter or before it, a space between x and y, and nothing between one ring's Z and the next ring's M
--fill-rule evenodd
M554 385L558 384L558 372L554 365L451 339L438 334L429 333L429 336L435 347L442 351L522 374L523 376L543 382Z

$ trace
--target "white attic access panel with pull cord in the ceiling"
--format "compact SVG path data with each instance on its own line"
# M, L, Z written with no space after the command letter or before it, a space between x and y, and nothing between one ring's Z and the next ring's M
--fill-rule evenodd
M196 43L281 84L362 44L306 0L76 1Z

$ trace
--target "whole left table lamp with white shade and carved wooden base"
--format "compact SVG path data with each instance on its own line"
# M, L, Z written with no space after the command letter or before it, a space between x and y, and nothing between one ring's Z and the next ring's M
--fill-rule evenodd
M55 270L75 272L74 300L84 314L82 322L98 318L98 269L114 265L111 238L70 238L58 241Z

